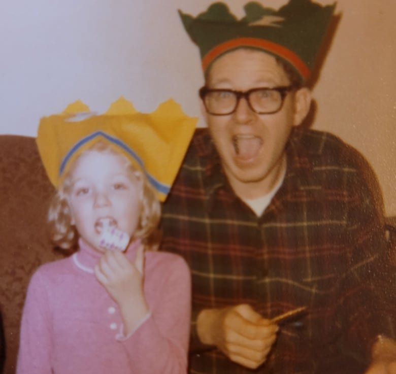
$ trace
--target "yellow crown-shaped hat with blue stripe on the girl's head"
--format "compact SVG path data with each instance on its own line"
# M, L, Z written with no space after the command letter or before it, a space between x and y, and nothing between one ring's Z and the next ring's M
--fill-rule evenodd
M37 145L48 178L59 187L73 161L98 141L124 154L147 177L163 201L176 177L197 119L186 116L174 100L152 113L139 113L120 98L102 115L81 101L61 114L43 117Z

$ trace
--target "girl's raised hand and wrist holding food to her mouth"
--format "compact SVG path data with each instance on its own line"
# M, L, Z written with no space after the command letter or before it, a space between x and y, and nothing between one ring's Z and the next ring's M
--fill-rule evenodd
M141 245L132 263L123 253L106 251L94 267L98 282L118 304L128 335L148 314L143 293L144 247Z

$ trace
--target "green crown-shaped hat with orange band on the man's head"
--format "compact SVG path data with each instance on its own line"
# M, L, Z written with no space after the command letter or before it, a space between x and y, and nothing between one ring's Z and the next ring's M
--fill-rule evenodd
M335 4L290 0L278 11L251 2L238 20L223 3L212 4L196 18L179 10L184 28L200 48L207 71L219 56L239 47L264 50L280 57L306 81L332 19Z

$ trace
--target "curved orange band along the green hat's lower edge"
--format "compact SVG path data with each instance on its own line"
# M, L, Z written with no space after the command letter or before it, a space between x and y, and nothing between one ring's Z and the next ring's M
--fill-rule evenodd
M295 69L304 77L304 79L308 79L310 75L310 70L308 66L298 55L279 44L257 38L238 38L228 40L224 43L217 45L216 47L211 49L202 59L202 69L204 70L204 72L214 59L219 57L224 52L238 47L253 47L272 52L291 63L295 67Z

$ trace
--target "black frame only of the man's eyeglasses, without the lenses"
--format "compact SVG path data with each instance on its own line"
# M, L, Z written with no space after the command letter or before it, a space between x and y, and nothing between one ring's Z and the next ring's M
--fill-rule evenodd
M250 110L252 110L254 113L257 113L257 114L274 114L274 113L279 112L282 109L283 103L285 101L286 94L288 92L292 91L294 88L295 88L294 85L289 85L289 86L278 86L278 87L255 87L255 88L251 88L250 90L247 90L247 91L235 91L235 90L229 90L229 89L208 88L207 86L203 86L199 90L199 95L200 95L200 97L202 99L202 102L204 103L206 111L209 114L211 114L212 116L228 116L230 114L233 114L238 108L239 101L241 100L241 97L245 98ZM281 104L280 104L280 106L279 106L279 108L277 110L272 111L272 112L257 112L257 111L255 111L253 109L253 107L250 104L249 96L250 96L250 94L252 92L256 92L256 91L260 91L260 90L271 90L271 91L277 91L277 92L280 93L280 95L281 95ZM222 114L209 112L209 110L208 110L208 108L206 106L206 103L205 103L205 96L208 93L211 93L211 92L230 92L230 93L235 94L235 96L237 97L237 101L236 101L234 109L232 111L228 112L228 113L222 113Z

